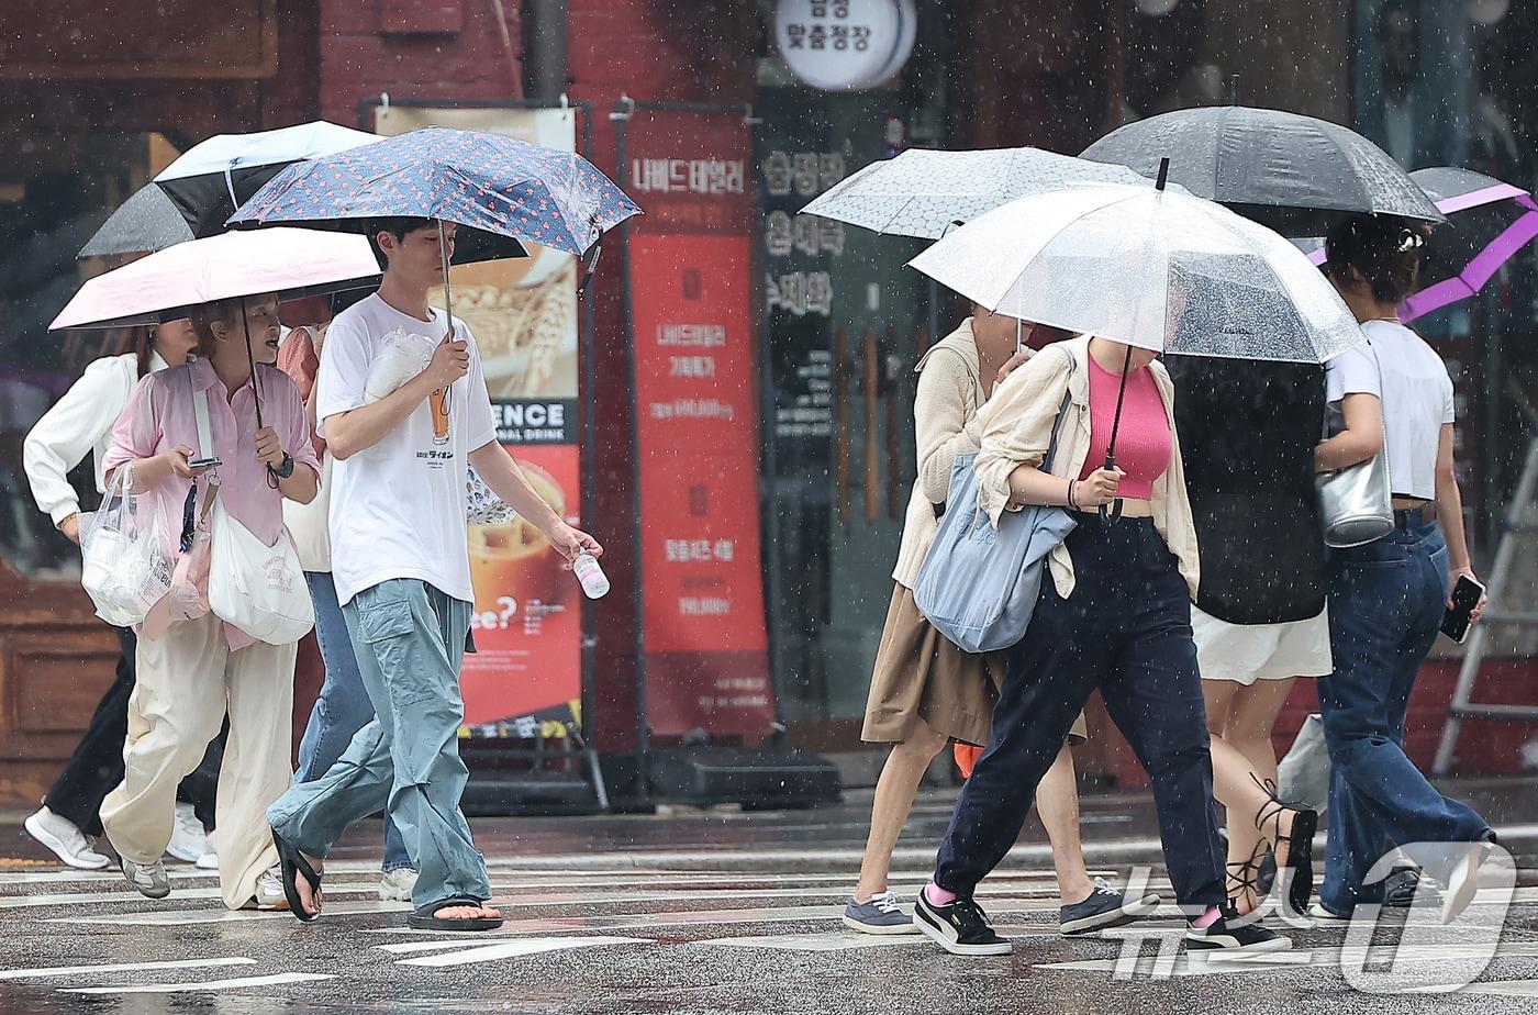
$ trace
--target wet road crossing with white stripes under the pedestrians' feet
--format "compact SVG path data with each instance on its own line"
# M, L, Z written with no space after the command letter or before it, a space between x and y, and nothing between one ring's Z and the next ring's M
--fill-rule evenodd
M844 929L840 918L854 880L847 872L707 869L694 854L680 869L664 855L651 855L649 867L637 866L634 857L611 858L609 864L584 858L566 869L494 861L494 904L506 923L491 933L406 927L409 904L378 901L377 869L363 861L328 867L326 912L303 926L286 912L225 910L215 878L192 867L172 870L174 894L160 901L125 890L111 872L0 872L0 935L28 941L23 952L0 958L0 1001L18 990L31 997L235 992L285 1003L305 998L326 1010L323 998L334 997L338 983L437 984L435 997L443 997L443 987L466 981L440 978L471 969L517 977L535 967L703 967L723 975L740 970L751 983L763 970L795 967L784 963L815 963L829 975L857 969L895 975L918 966L957 975L987 967L992 975L1063 990L1138 978L1261 973L1309 977L1344 989L1335 970L1343 960L1361 958L1343 947L1343 929L1297 930L1295 949L1278 955L1221 963L1187 958L1180 947L1184 924L1167 904L1172 890L1161 878L1147 884L1166 900L1152 918L1094 938L1064 938L1057 932L1052 870L1017 864L1000 869L978 892L998 930L1015 941L1015 953L958 960L923 935ZM1126 878L1115 870L1092 874ZM906 869L892 877L892 887L912 900L926 878L924 870ZM1520 1004L1538 995L1538 933L1526 930L1538 887L1518 889L1513 901L1521 918L1510 921L1509 940L1492 963L1498 975L1466 990ZM1412 969L1446 960L1456 946L1456 927L1447 930L1446 943L1400 947L1397 963ZM112 941L131 950L112 953ZM100 949L100 961L88 961L83 952L89 949ZM151 953L161 961L129 961ZM317 955L328 958L317 961Z

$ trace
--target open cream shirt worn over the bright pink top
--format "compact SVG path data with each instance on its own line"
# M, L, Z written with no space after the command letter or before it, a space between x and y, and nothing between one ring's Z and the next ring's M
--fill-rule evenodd
M1072 375L1063 352L1074 357ZM1147 369L1154 371L1154 381L1164 400L1172 452L1169 469L1154 481L1154 527L1180 560L1180 574L1186 578L1190 598L1195 601L1201 567L1197 529L1186 497L1180 437L1175 432L1175 384L1170 383L1163 363L1154 361ZM994 524L998 524L1009 503L1009 474L1023 463L1040 466L1046 457L1052 441L1052 423L1058 406L1063 404L1064 391L1070 392L1066 409L1069 418L1063 421L1058 434L1052 475L1078 477L1089 457L1089 335L1047 346L1010 374L978 412L977 426L981 429L981 449L977 455L978 500ZM1074 561L1066 546L1052 551L1050 566L1058 595L1067 598L1074 594Z

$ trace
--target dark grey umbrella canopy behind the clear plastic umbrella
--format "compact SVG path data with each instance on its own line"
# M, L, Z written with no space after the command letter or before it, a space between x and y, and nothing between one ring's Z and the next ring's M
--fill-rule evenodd
M1129 123L1084 158L1170 180L1283 235L1329 232L1341 215L1373 212L1444 221L1426 192L1361 134L1313 117L1249 106L1181 109Z

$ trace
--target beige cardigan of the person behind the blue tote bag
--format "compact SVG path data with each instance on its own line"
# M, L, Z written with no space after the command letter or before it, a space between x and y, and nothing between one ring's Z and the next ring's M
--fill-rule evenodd
M907 500L903 543L892 571L892 580L904 589L912 589L918 580L924 554L940 529L934 506L944 503L950 489L950 466L957 455L977 451L981 435L977 408L986 394L972 318L930 346L914 369L918 372L914 394L918 480Z

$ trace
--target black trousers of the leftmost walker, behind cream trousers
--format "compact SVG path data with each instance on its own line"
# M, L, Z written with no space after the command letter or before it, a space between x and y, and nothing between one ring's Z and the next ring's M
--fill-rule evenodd
M134 694L134 652L138 640L128 627L117 629L117 640L123 646L123 655L117 660L117 680L102 695L85 737L43 797L43 806L72 821L86 835L102 834L102 801L123 781L128 697ZM225 760L228 729L226 723L208 746L203 763L177 787L177 800L191 803L206 829L214 827L214 792L218 786L218 766Z

